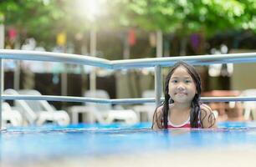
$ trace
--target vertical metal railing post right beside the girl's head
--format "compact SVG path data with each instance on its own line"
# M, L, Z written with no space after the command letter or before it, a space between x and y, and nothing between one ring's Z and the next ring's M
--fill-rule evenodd
M161 66L156 65L155 67L155 93L156 93L156 107L161 104Z

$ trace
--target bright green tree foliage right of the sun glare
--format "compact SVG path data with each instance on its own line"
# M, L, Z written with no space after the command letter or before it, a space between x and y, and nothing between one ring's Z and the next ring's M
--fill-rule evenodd
M253 0L133 0L128 7L134 25L146 30L207 35L253 29L256 32L256 2Z

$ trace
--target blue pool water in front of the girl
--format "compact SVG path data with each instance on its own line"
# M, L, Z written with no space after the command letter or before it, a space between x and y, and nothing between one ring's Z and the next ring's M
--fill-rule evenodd
M157 150L256 149L256 123L218 124L219 129L152 131L151 123L74 124L67 127L10 128L0 133L1 159L54 159L72 156L133 154Z

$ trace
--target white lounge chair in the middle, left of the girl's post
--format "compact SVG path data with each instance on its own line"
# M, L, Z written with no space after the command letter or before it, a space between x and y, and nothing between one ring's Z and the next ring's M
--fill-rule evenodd
M110 99L105 90L95 90L85 92L85 97ZM113 109L111 104L87 103L87 109L90 109L95 119L102 124L110 124L115 121L124 122L125 124L135 124L138 122L135 111L132 109Z

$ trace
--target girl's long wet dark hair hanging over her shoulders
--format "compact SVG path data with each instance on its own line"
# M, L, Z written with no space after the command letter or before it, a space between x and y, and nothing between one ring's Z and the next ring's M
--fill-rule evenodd
M174 64L172 70L167 74L166 76L166 83L165 83L165 100L163 102L163 108L162 108L162 114L157 114L157 109L155 111L155 114L153 116L153 124L156 124L158 126L158 128L160 129L167 129L167 124L168 124L168 113L169 113L169 104L172 104L174 101L173 99L171 99L170 95L169 95L169 81L172 77L172 74L174 73L174 71L179 68L179 67L183 67L186 68L187 73L189 73L189 75L192 77L193 82L196 85L196 94L194 96L194 98L192 99L192 103L191 103L191 112L190 112L190 124L192 128L199 128L198 126L198 119L200 119L200 96L201 96L201 79L199 74L196 71L196 68L194 68L192 65L185 63L183 61L179 61L177 63ZM200 121L201 122L201 121ZM202 127L202 123L201 123L201 127Z

